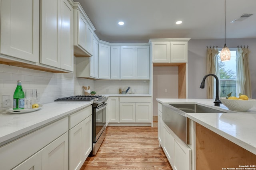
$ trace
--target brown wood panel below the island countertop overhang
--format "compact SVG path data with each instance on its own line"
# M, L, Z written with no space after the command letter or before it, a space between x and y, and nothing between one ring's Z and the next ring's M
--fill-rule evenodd
M241 168L239 165L256 165L256 155L196 123L197 170Z

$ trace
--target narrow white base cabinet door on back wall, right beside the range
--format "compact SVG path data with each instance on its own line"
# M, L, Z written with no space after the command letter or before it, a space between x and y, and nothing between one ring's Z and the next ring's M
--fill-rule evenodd
M118 123L119 122L119 98L110 97L108 99L109 107L109 122Z

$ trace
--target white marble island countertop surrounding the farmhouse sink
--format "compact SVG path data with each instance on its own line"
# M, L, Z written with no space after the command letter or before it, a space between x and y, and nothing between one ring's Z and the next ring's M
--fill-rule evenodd
M256 107L247 112L228 110L226 106L214 106L212 99L156 99L162 104L191 103L208 106L230 113L186 113L186 116L240 147L256 154Z

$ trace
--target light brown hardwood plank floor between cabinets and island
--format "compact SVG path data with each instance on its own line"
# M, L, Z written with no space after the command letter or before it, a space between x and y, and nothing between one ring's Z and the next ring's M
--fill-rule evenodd
M97 154L80 170L172 170L159 147L157 127L107 127Z

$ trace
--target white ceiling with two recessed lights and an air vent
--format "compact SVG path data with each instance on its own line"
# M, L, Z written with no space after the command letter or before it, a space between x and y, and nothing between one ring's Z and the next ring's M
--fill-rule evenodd
M224 0L74 0L99 39L110 43L150 38L224 38ZM253 14L231 23L242 14ZM176 21L182 20L180 25ZM124 25L118 25L124 21ZM256 38L256 0L226 0L226 38Z

